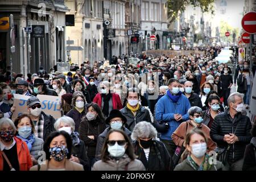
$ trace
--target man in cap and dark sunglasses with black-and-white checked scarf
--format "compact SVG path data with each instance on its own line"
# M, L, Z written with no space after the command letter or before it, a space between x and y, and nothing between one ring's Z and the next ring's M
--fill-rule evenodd
M31 97L27 100L27 110L35 125L35 137L46 140L47 136L55 131L55 119L42 111L41 102L37 97Z

